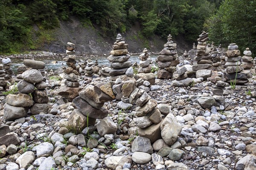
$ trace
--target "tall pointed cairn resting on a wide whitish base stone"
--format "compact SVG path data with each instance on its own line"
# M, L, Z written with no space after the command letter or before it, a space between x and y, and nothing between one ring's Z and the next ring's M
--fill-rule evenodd
M199 35L197 39L197 54L194 58L197 64L192 65L192 70L196 71L196 78L203 77L204 80L211 77L212 74L212 70L207 69L212 67L212 56L209 54L211 48L207 48L208 34L209 33L203 31L202 34Z

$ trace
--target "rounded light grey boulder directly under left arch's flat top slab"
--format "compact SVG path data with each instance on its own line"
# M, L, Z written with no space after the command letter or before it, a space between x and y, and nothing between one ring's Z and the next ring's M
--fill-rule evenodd
M27 82L37 83L44 80L41 72L37 69L26 70L21 74L22 78Z

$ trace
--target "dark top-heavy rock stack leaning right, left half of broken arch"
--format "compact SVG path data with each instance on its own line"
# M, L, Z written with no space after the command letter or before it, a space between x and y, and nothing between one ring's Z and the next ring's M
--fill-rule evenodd
M112 82L101 82L95 86L89 85L85 90L80 91L79 96L73 99L73 103L77 109L75 109L70 115L68 125L82 130L87 126L87 117L90 125L94 125L96 119L102 119L97 127L99 135L104 136L106 133L115 133L117 127L111 119L107 118L108 110L103 107L105 102L111 101L115 98L112 91L112 85ZM79 123L77 122L78 119L81 120ZM104 124L109 122L111 125L116 127L114 131L108 131L111 128L101 128L105 127Z

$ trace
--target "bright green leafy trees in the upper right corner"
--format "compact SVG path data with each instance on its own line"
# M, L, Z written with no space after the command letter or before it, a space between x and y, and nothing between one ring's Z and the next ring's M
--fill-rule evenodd
M239 7L239 8L238 8ZM256 1L225 0L217 13L206 22L209 37L215 44L236 43L243 51L256 50Z

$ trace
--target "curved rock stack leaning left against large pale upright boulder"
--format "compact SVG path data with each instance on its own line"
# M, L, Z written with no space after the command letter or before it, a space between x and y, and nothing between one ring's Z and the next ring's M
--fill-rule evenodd
M138 106L138 108L136 108L137 118L135 122L139 127L138 134L142 137L141 140L146 141L149 139L149 143L154 143L160 139L164 141L166 145L172 145L176 142L182 130L182 125L178 123L172 113L169 113L169 106L166 105L158 109L157 101L151 99L145 91L142 89L139 90L138 88L135 88L129 100L130 103ZM133 144L135 143L136 142ZM132 152L145 152L134 146L132 146Z

